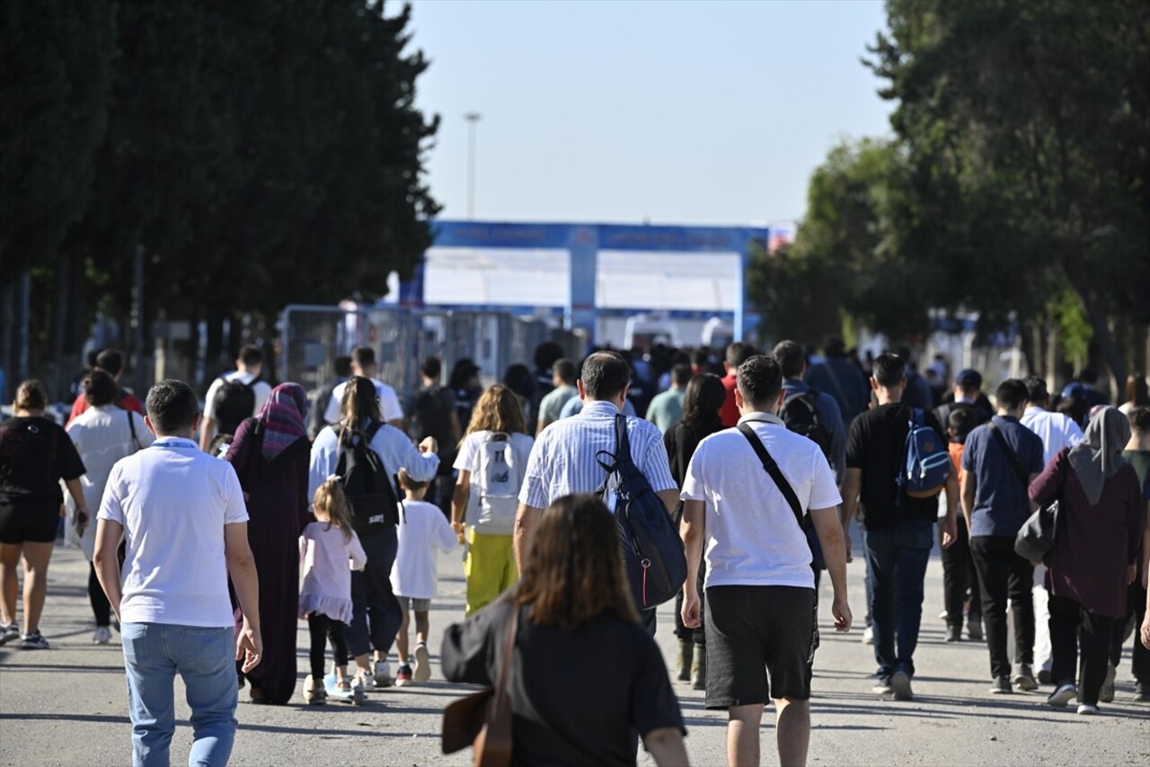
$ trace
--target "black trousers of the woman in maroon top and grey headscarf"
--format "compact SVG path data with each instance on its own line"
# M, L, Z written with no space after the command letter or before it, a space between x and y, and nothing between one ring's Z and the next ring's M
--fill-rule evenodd
M1106 653L1114 618L1088 613L1066 597L1050 595L1050 679L1056 685L1074 684L1079 647L1082 648L1079 703L1098 705L1098 691L1106 678Z

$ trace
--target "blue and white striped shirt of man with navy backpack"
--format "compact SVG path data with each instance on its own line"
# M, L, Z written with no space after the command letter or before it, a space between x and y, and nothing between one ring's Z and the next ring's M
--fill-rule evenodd
M592 400L578 416L557 420L543 430L527 462L527 477L519 492L520 502L545 509L564 495L593 493L606 476L596 461L596 454L600 450L615 451L618 412L612 403ZM628 418L627 436L631 443L631 460L646 477L651 489L657 493L677 489L658 427L639 418Z

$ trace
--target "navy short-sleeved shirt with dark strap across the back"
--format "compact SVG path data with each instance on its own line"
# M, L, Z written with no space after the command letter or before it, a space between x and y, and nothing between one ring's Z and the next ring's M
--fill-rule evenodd
M1027 472L1023 484L1010 464L1002 443L995 438L995 424L1006 439L1020 466ZM1013 538L1030 516L1027 496L1029 474L1042 471L1043 447L1037 434L1010 416L995 416L966 438L963 471L974 472L974 509L971 537L1009 536Z

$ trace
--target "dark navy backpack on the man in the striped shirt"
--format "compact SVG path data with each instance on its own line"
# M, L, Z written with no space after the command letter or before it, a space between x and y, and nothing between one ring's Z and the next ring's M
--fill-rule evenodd
M599 460L607 456L611 463ZM615 524L623 547L623 567L631 582L631 595L641 610L674 599L687 580L687 555L667 507L631 460L627 416L615 416L615 454L600 450L596 461L607 471L596 495L611 503L614 494ZM612 486L611 478L615 477Z

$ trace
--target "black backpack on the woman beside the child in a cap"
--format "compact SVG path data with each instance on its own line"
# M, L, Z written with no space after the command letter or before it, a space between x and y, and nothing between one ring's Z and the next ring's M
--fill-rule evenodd
M339 432L336 476L352 508L352 526L362 532L370 525L399 524L399 500L383 461L371 449L371 439L383 427L373 422L366 431Z

